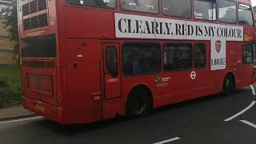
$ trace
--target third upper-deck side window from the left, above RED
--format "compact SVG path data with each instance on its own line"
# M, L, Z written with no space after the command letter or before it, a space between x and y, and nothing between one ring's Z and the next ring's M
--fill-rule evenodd
M174 17L191 17L191 0L162 0L162 13Z

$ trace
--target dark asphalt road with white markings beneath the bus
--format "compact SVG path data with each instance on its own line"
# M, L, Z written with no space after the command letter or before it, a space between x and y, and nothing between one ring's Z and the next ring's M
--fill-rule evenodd
M0 143L254 144L255 100L249 86L230 96L182 102L132 120L78 126L59 126L44 118L0 123Z

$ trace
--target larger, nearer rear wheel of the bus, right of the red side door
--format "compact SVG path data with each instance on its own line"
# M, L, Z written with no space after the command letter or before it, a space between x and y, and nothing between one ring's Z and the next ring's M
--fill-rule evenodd
M147 90L133 90L127 98L126 115L129 118L138 118L145 115L150 109L150 94Z

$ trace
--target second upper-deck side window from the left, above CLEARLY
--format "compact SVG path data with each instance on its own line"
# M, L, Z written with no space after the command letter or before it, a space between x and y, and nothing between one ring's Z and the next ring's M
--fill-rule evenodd
M122 0L122 9L157 14L158 0Z

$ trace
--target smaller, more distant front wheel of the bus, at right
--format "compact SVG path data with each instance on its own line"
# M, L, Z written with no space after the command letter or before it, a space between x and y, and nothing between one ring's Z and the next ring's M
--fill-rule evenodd
M234 89L234 78L231 75L227 75L223 82L223 95L230 95L234 92Z

